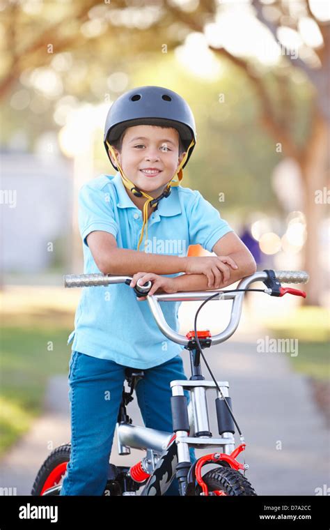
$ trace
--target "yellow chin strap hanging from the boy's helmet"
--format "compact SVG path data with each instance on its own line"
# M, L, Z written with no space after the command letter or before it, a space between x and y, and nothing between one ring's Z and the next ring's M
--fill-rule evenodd
M187 160L187 156L188 156L189 150L191 149L191 146L194 146L194 144L195 144L195 142L194 142L194 138L193 138L191 140L191 142L190 142L190 145L189 145L189 147L187 149L186 154L182 158L182 160L180 162L180 165L178 166L178 169L175 172L175 175L172 177L171 181L169 181L166 184L162 195L157 197L157 199L160 200L160 199L162 199L162 197L168 197L168 195L170 195L170 193L171 193L170 188L173 187L173 186L180 185L180 182L183 179L182 166L184 165L184 162ZM111 144L109 144L108 141L107 141L107 146L109 147L109 151L110 151L111 155L113 156L113 158L114 158L114 160L116 162L116 166L118 167L118 171L120 172L120 175L121 175L121 177L123 179L123 184L125 185L125 188L127 188L127 190L130 190L133 193L133 195L136 195L136 197L146 197L146 199L148 199L143 204L143 225L142 225L142 232L141 232L141 237L139 239L137 250L140 249L141 241L143 240L143 232L144 232L144 228L145 227L146 227L146 241L145 241L145 248L146 248L146 243L147 243L147 240L148 240L148 204L151 203L151 206L155 207L158 204L158 200L154 199L154 197L151 197L151 195L148 195L148 193L137 189L135 187L135 184L132 181L130 181L129 179L127 179L127 176L124 174L123 169L120 167L120 164L118 163L116 154L113 151L113 147L111 146ZM178 175L178 181L174 180L174 177L176 175Z

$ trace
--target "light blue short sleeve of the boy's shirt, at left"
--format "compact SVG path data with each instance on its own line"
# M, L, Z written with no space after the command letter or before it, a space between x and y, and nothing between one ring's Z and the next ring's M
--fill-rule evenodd
M85 245L86 237L95 230L118 234L118 223L114 219L113 203L109 192L98 190L88 184L79 190L79 230Z

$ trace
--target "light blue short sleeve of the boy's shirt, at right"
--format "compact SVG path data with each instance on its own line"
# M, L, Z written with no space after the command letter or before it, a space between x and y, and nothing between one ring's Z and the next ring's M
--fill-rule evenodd
M228 232L234 232L234 230L199 191L195 190L194 193L196 198L188 214L190 245L199 244L205 250L212 252L215 243L222 236Z

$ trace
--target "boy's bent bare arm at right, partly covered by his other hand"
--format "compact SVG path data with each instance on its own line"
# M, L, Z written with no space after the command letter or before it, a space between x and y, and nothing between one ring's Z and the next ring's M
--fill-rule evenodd
M231 257L238 266L237 269L228 266L230 278L225 282L221 280L218 289L227 287L238 280L242 280L245 276L249 276L256 272L257 266L253 255L235 232L229 232L221 237L221 239L219 239L213 246L212 252L215 252L217 256ZM207 291L207 289L210 289L207 285L207 278L204 274L182 274L177 278L174 278L174 280L178 287L178 292Z

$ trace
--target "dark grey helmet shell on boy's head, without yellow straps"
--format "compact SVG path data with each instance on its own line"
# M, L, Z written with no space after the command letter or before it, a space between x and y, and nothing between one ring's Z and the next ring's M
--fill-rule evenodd
M184 168L196 143L196 125L188 103L178 93L163 86L138 86L123 93L111 105L104 127L104 147L116 170L118 167L111 161L107 141L109 144L116 142L127 127L136 125L175 128L186 151L194 139L182 166Z

